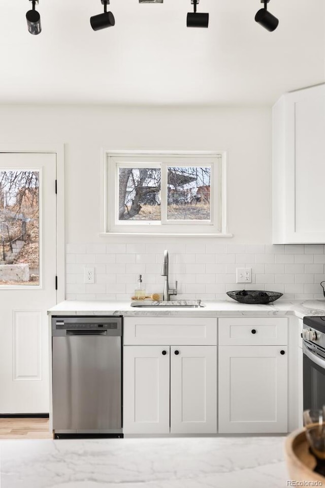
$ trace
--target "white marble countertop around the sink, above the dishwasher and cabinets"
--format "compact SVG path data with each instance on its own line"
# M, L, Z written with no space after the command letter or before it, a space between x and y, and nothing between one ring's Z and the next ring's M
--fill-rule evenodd
M106 301L106 300L65 300L51 309L49 315L124 315L124 316L153 316L173 315L180 317L216 317L216 316L245 316L245 315L296 315L303 318L305 315L325 315L324 300L276 300L269 305L247 305L234 300L216 300L204 302L204 308L177 309L177 307L165 308L140 307L133 308L130 301Z

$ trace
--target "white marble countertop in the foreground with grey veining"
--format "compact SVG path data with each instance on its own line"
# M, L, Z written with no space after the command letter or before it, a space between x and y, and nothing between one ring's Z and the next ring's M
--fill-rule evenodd
M283 488L284 437L0 442L1 488Z

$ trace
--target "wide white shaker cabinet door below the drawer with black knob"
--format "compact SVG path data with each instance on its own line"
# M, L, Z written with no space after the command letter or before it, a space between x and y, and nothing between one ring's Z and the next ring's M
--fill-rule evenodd
M287 432L286 346L219 347L219 433Z

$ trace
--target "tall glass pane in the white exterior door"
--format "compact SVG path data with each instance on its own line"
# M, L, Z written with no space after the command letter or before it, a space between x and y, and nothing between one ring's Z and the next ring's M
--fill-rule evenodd
M39 285L39 172L0 171L0 285Z

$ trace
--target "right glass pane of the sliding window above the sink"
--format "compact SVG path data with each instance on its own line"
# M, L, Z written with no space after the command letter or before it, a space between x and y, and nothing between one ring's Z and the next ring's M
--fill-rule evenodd
M211 168L169 167L168 220L210 220Z

